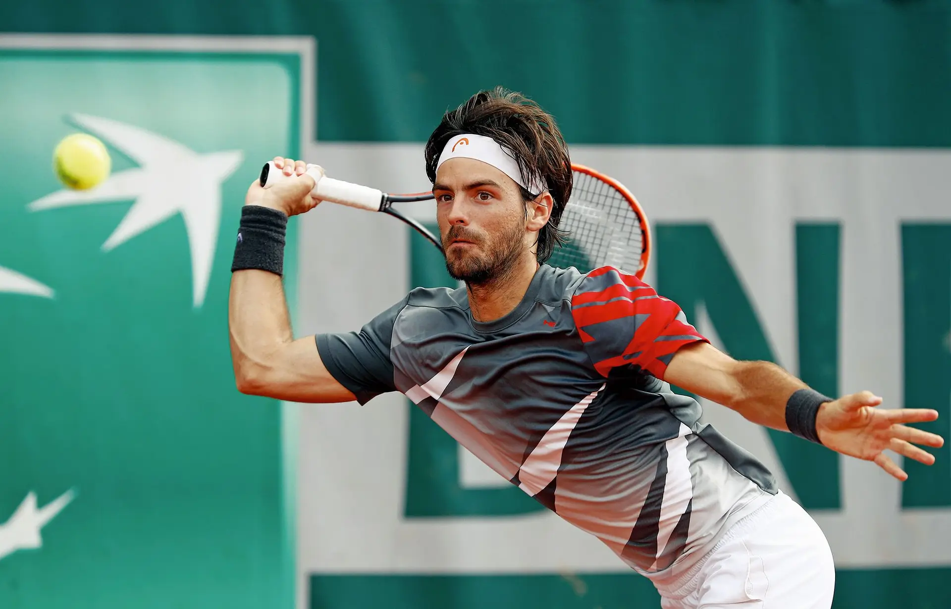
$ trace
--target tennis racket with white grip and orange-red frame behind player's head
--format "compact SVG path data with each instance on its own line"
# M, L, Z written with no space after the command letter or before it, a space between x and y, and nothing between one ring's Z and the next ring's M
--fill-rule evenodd
M548 264L574 267L586 273L601 266L614 266L643 278L650 262L650 227L640 203L624 184L590 167L572 163L572 197L565 205L559 227L568 232L567 242L555 248ZM376 188L334 180L319 165L308 164L307 173L316 182L311 195L340 205L382 212L412 226L439 251L442 243L416 219L401 214L393 205L434 200L432 191L412 195L391 195ZM267 188L290 180L274 162L264 164L261 185Z

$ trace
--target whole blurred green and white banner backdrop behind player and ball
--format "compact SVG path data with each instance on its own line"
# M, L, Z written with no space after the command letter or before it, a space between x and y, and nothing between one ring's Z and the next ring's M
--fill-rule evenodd
M714 344L951 435L947 2L3 2L0 607L658 606L402 396L235 390L230 260L262 162L425 190L442 112L497 85L631 189L647 279ZM92 190L53 172L71 133L107 146ZM299 335L452 284L394 219L290 227ZM951 607L949 445L900 484L705 409L822 525L837 609Z

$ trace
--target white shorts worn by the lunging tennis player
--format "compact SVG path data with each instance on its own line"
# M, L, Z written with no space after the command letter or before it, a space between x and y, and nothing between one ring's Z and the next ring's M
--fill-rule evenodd
M829 609L832 551L819 525L782 492L734 524L663 609Z

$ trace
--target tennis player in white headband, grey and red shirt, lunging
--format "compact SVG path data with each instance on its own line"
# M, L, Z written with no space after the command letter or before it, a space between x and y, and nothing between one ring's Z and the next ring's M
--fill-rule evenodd
M477 93L426 143L446 268L465 288L415 289L359 332L295 340L281 287L288 217L312 209L298 176L247 193L229 325L238 389L296 402L365 404L399 391L500 475L650 578L662 607L828 609L822 530L743 448L699 423L675 385L872 461L924 464L940 436L878 409L869 391L826 397L768 362L736 361L676 303L625 269L545 261L572 190L553 118L519 94Z

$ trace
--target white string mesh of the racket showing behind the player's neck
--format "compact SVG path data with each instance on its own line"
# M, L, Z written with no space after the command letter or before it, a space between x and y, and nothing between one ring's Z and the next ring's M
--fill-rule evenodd
M641 267L644 236L628 199L606 181L574 172L572 198L559 226L567 243L555 248L549 264L582 273L611 265L628 273Z

